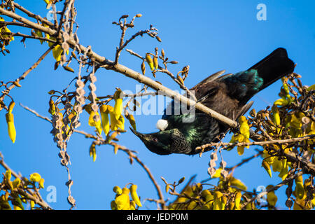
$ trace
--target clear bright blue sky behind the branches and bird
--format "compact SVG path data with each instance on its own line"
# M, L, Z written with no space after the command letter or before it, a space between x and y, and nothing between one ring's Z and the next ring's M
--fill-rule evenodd
M46 16L43 1L17 1L25 8L33 10L41 16ZM258 3L267 6L267 20L256 18ZM62 10L60 3L57 10ZM134 29L128 29L127 37L140 29L148 29L149 25L158 28L162 43L148 36L132 41L127 48L145 55L154 52L154 48L164 49L167 57L179 61L170 66L177 73L183 66L190 65L190 73L185 84L193 87L211 73L225 69L228 73L243 71L268 55L272 50L283 47L297 64L295 72L302 75L304 85L315 83L315 15L314 1L76 1L78 16L76 22L80 28L78 36L80 43L92 45L92 50L99 55L113 59L116 46L119 43L120 30L111 24L120 15L143 16L135 22ZM12 31L18 31L15 28ZM28 34L28 33L27 33ZM26 48L15 38L8 46L10 54L0 56L0 80L9 81L18 78L38 57L45 52L47 45L38 41L27 40ZM73 78L73 74L59 68L53 70L55 59L48 55L27 78L21 82L22 88L15 87L10 94L15 102L22 103L36 110L43 116L48 113L49 90L62 90ZM120 63L140 71L141 61L123 52ZM78 66L71 63L75 71ZM152 77L148 73L148 76ZM97 95L113 94L115 87L122 90L135 91L134 80L120 73L100 69L97 76ZM179 87L172 83L165 74L158 73L158 80L174 90ZM281 82L278 81L258 93L253 100L256 111L264 109L279 97L277 96ZM7 99L8 100L8 99ZM223 102L221 102L223 103ZM6 130L5 112L0 118L0 151L5 161L16 172L28 176L38 172L45 179L45 186L55 186L57 202L51 203L54 209L69 209L66 202L67 174L59 164L58 149L52 141L50 123L36 118L20 106L15 106L15 127L17 139L12 144ZM137 130L140 132L155 132L155 123L160 115L135 116ZM83 125L80 130L93 132L87 125L87 115L81 116ZM127 124L127 123L126 123ZM127 127L128 125L126 125ZM225 141L229 141L226 137ZM186 176L186 180L197 174L196 181L209 178L207 174L209 155L155 155L148 151L141 141L128 130L120 136L120 144L138 151L139 158L151 169L155 179L164 189L160 176L173 182ZM68 144L71 156L70 172L73 179L72 195L77 202L76 209L110 209L114 198L113 186L125 186L126 183L136 183L141 199L158 196L153 184L136 162L130 165L127 155L118 152L114 155L111 146L97 147L97 160L92 162L88 155L91 141L83 136L73 134ZM255 148L246 149L244 155L237 151L223 152L223 158L228 167L235 165L243 158L255 153ZM281 181L278 177L269 179L267 172L260 167L261 158L257 158L235 171L235 177L241 179L248 190L258 186L267 186ZM0 169L3 172L2 169ZM276 176L276 174L274 174ZM217 180L211 181L216 183ZM184 182L186 183L186 182ZM284 207L285 188L279 190L279 206ZM165 191L163 190L163 193ZM42 190L45 199L47 192ZM173 198L165 194L165 198ZM155 209L155 204L145 202L142 209Z

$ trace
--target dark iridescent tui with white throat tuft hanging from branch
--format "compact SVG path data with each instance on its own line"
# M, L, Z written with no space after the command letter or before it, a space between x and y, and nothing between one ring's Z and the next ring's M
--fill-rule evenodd
M246 103L254 94L292 73L294 67L286 49L277 48L246 71L223 76L224 71L214 73L190 90L195 91L197 102L236 120L251 107L253 102ZM174 112L174 101L169 105ZM229 127L201 111L195 111L195 119L190 123L184 123L183 118L188 118L191 114L174 115L167 114L166 111L167 109L162 119L158 120L159 132L141 134L130 128L150 151L159 155L197 154L197 146L218 141L218 136L229 130Z

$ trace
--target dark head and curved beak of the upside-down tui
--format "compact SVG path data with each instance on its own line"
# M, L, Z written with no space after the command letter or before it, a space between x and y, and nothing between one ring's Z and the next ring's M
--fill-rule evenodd
M165 130L150 134L142 134L130 127L130 130L141 139L146 148L159 155L169 155L172 153L172 130Z

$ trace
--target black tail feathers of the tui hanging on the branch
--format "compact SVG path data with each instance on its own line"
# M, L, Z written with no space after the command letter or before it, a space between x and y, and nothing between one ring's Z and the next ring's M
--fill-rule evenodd
M294 62L288 58L288 53L284 48L277 48L270 55L249 69L256 69L258 75L264 80L260 90L265 89L279 78L294 71ZM248 69L248 70L249 70Z

